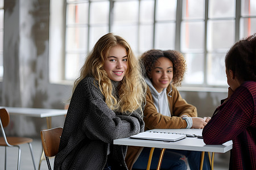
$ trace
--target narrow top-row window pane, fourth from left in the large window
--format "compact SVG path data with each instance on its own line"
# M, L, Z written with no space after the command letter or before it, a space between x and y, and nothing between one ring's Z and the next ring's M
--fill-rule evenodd
M141 23L152 23L154 22L154 1L146 0L141 1L141 12L140 12L140 22Z

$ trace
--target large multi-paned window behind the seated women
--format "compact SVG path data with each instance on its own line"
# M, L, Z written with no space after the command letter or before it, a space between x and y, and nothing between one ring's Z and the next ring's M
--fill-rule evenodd
M183 86L224 87L227 50L256 32L255 0L73 0L65 9L62 79L71 81L95 42L113 32L137 56L152 48L183 53Z

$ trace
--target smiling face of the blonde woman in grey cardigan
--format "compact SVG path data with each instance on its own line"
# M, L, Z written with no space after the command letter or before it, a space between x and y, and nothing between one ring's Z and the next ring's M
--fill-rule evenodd
M121 45L115 45L109 50L104 63L104 70L109 78L114 81L121 81L127 70L127 52Z

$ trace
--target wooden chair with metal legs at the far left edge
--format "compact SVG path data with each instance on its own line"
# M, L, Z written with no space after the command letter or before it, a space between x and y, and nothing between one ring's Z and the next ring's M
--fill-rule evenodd
M32 152L32 146L31 146L31 142L33 141L33 139L23 138L23 137L6 137L5 130L3 128L5 128L9 124L9 122L10 122L9 112L5 108L1 108L0 109L0 124L1 124L0 128L2 131L3 137L0 137L0 146L5 146L5 169L6 169L6 147L18 147L17 169L19 170L20 169L20 155L21 155L21 150L20 150L19 145L22 145L24 143L28 143L28 145L30 147L32 162L34 165L34 169L36 169L34 156L33 156L33 152Z

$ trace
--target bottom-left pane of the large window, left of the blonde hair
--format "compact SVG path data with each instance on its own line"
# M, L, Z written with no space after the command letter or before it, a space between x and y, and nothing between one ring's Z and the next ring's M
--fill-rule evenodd
M79 71L84 64L85 54L66 54L65 79L74 80L79 76Z

